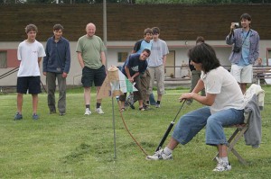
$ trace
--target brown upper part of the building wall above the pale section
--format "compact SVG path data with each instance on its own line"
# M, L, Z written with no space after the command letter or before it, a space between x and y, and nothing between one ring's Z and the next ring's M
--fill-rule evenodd
M61 23L64 35L76 41L86 24L94 22L103 38L103 4L3 4L0 6L0 41L21 41L23 28L34 23L38 40L51 36L53 24ZM252 27L262 40L270 40L271 4L107 4L107 40L138 40L146 27L161 28L164 40L224 40L230 22L242 13L252 15Z

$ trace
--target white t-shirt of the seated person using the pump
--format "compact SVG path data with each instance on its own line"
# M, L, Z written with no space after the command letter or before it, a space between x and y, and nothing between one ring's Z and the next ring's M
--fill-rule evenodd
M242 110L245 107L244 95L236 79L224 67L217 67L207 74L201 72L201 80L208 94L216 94L210 112L215 113L229 108Z

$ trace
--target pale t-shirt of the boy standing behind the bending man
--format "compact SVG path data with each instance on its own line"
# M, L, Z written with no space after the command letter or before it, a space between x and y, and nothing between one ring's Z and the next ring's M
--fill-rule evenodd
M148 67L159 67L163 65L163 56L169 53L164 40L151 40L153 43L151 55L148 58Z

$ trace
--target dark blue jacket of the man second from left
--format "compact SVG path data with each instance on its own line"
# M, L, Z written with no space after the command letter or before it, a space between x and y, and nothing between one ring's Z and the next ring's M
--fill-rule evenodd
M61 37L58 42L54 36L47 40L46 57L43 58L42 71L52 73L69 73L70 71L70 42Z

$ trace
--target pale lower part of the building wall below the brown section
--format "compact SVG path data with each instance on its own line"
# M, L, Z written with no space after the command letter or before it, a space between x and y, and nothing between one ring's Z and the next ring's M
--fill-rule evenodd
M229 53L231 51L231 47L225 44L225 40L206 40L207 43L213 46L216 50L217 56L220 59L220 63L222 66L228 66L229 68ZM108 41L107 45L107 67L112 65L119 66L123 65L123 63L117 62L117 52L128 52L130 53L133 49L135 41L126 41L123 46L121 46L121 42L119 41ZM187 46L182 45L184 41L173 41L168 40L167 44L169 46L169 50L175 51L175 66L174 67L174 76L181 77L181 66L182 61L188 64L187 58L187 49L192 48L194 44L194 40L189 40ZM18 42L0 42L0 49L17 49ZM42 41L43 46L45 47L46 42ZM81 68L79 66L77 53L76 53L76 45L77 41L70 41L70 51L71 51L71 66L70 66L70 74L67 77L67 84L68 85L80 85L80 75L81 75ZM271 46L271 40L261 40L260 41L260 57L266 57L266 49L267 47ZM16 53L16 50L14 50ZM16 54L13 54L13 57L16 57ZM8 68L0 68L0 75L5 74L5 72L13 69L13 67ZM168 69L172 69L169 67ZM42 72L42 67L41 67ZM45 76L41 75L42 83L45 84ZM16 73L9 77L5 77L0 79L1 85L16 85Z

